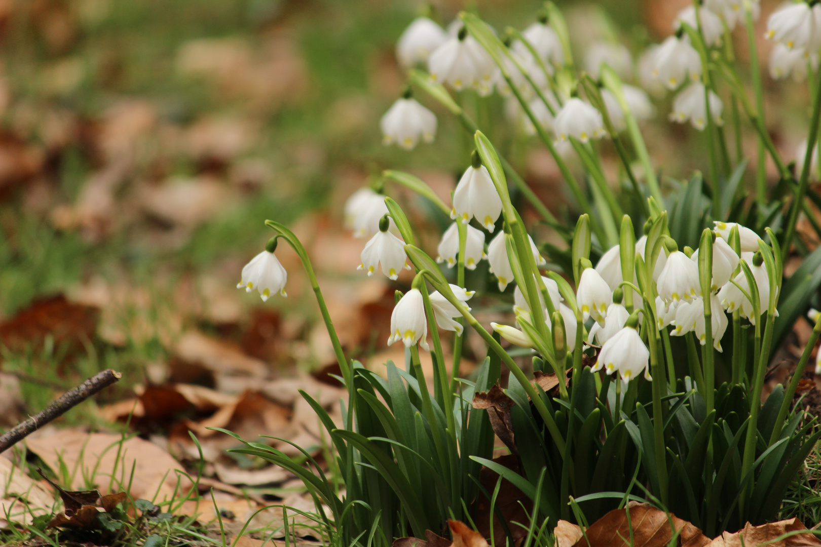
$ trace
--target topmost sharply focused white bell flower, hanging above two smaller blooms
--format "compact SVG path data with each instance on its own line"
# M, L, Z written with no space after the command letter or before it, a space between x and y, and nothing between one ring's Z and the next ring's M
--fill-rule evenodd
M477 154L474 155L478 157ZM451 218L460 218L462 224L467 224L470 217L475 217L492 234L493 225L500 214L502 198L499 198L487 167L481 164L468 167L453 193Z

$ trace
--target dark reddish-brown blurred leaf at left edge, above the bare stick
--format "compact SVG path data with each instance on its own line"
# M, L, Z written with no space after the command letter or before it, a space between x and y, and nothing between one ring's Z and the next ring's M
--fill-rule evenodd
M12 351L36 349L47 335L54 345L66 344L67 355L85 350L85 343L94 338L97 328L97 308L71 303L62 294L34 300L28 308L0 323L0 340Z

